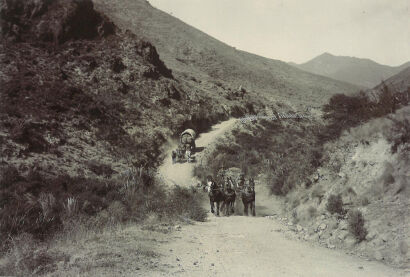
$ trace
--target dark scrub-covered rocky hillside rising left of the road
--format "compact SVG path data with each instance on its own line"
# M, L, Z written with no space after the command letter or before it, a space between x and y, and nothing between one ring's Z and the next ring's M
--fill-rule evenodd
M166 142L270 105L179 78L90 0L0 7L0 252L22 232L44 238L76 226L72 216L105 218L112 204L119 221L165 211L153 168Z

